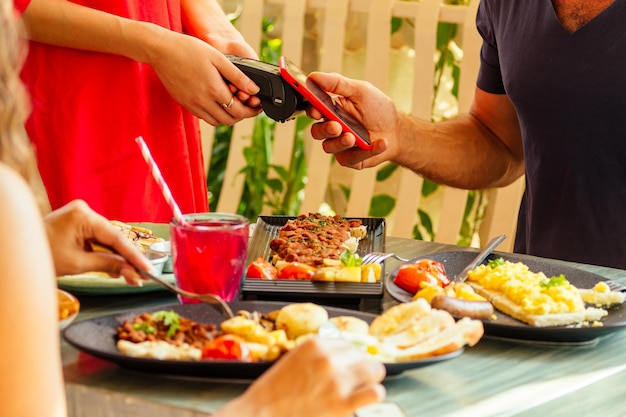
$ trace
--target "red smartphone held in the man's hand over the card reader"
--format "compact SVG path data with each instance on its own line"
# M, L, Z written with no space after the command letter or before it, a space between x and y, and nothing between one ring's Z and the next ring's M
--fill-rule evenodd
M280 58L279 67L281 77L319 110L326 120L339 122L344 133L352 133L359 148L365 150L372 148L367 129L336 104L326 91L308 78L307 74L284 56Z

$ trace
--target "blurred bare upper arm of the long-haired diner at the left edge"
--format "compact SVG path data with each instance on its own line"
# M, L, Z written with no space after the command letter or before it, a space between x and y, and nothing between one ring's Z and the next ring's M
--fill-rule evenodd
M65 416L55 275L26 183L0 163L0 415Z

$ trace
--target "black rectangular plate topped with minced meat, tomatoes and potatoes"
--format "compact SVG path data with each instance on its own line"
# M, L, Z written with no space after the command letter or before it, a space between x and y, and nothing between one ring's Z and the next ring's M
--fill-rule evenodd
M248 248L242 294L380 298L382 266L358 261L383 250L384 244L383 218L260 216Z

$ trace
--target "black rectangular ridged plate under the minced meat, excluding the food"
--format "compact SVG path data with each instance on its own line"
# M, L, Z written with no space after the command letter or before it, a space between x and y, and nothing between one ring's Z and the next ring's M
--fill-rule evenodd
M357 218L357 217L352 217ZM269 260L269 243L278 236L278 230L293 216L259 216L250 239L248 259L250 265L259 256ZM379 217L358 218L367 226L367 235L359 241L357 253L380 252L385 248L385 219ZM384 268L384 265L382 265ZM365 298L383 296L384 270L380 282L314 282L293 280L245 279L242 287L244 296L257 294L268 298L296 296L298 298Z

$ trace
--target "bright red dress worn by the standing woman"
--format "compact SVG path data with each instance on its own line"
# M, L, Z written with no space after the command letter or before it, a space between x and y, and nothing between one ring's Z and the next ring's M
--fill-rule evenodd
M182 31L179 0L75 3ZM26 129L53 209L80 198L109 219L168 222L172 211L135 143L142 136L182 212L208 210L198 119L149 65L31 42L22 78L32 100Z

